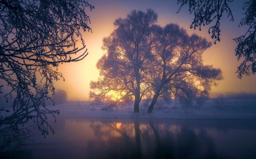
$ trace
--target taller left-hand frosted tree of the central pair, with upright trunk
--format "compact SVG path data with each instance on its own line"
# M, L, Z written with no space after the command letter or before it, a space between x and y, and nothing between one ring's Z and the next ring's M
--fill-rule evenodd
M147 12L133 10L126 19L114 22L115 31L103 39L102 49L107 53L98 61L98 81L91 81L92 98L109 96L108 108L119 101L134 97L134 112L139 113L139 102L149 88L146 70L152 67L148 59L156 41L159 26L154 25L158 15L151 9ZM111 101L108 100L108 101Z

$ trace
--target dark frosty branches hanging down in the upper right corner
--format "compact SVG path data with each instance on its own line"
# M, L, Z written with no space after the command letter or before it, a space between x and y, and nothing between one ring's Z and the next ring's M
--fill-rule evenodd
M224 12L228 12L228 17L231 17L230 21L233 21L232 10L229 8L229 2L233 0L177 0L177 3L181 3L181 7L189 4L189 11L195 15L195 18L190 28L196 29L199 27L201 31L201 25L208 25L215 23L209 28L209 34L212 34L212 38L216 41L220 41L220 19ZM256 0L250 0L243 3L243 10L245 10L245 18L240 21L240 25L247 25L249 29L246 33L240 37L234 38L237 42L236 56L238 61L243 58L240 66L237 68L238 78L242 78L242 75L255 74L256 72ZM177 12L179 12L177 11Z

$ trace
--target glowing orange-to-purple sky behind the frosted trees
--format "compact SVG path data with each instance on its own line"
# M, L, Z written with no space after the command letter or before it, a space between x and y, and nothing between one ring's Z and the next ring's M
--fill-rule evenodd
M104 51L101 49L102 38L109 36L114 31L113 22L118 18L126 18L132 10L141 10L146 12L147 8L152 8L158 14L158 23L163 27L168 23L177 23L180 27L187 30L189 35L196 33L199 36L206 37L212 43L214 40L208 34L208 28L213 25L206 25L202 31L190 29L193 15L189 14L188 6L179 10L176 0L89 0L90 5L95 8L90 11L88 8L86 14L90 17L89 27L92 32L84 32L82 37L85 40L88 56L79 62L65 63L58 70L63 73L65 81L56 81L57 89L64 89L68 93L68 100L89 100L89 83L91 80L97 80L99 71L96 68L98 59L102 57ZM233 38L243 35L246 27L238 27L243 18L243 1L234 1L229 3L234 16L234 22L230 22L228 14L224 14L220 21L221 36L220 42L212 45L203 53L205 65L213 65L215 68L221 68L224 80L221 80L218 87L212 87L210 97L216 97L217 94L225 92L256 92L256 75L243 76L238 79L235 72L241 61L237 61L235 56L236 42ZM81 47L80 45L78 45Z

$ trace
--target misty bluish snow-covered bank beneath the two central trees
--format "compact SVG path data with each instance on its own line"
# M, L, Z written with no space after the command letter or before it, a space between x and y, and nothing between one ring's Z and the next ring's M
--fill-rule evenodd
M141 113L133 113L133 105L100 110L100 107L88 101L67 102L48 106L48 109L59 109L57 118L256 119L256 100L226 100L219 108L213 108L213 105L214 101L209 100L200 110L186 113L179 104L172 102L168 106L155 106L151 114L147 113L147 107L143 104L140 106Z

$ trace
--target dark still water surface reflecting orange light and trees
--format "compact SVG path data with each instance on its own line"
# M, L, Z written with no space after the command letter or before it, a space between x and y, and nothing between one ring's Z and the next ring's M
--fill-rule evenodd
M6 158L256 158L256 121L58 118Z

